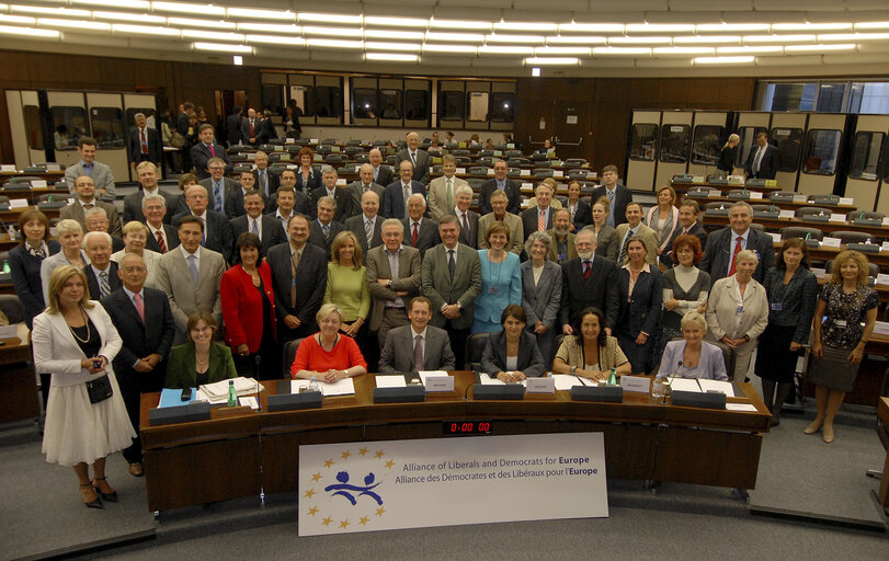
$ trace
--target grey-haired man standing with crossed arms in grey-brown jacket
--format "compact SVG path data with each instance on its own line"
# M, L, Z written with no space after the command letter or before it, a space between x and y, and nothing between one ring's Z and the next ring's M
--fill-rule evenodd
M408 323L407 301L420 294L420 251L403 245L404 225L397 218L383 222L385 245L367 252L367 289L371 291L371 331L379 347L392 328Z

